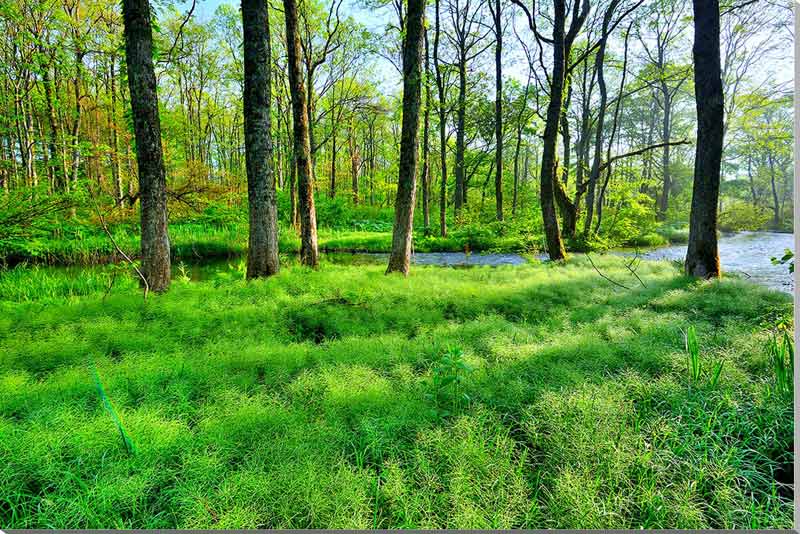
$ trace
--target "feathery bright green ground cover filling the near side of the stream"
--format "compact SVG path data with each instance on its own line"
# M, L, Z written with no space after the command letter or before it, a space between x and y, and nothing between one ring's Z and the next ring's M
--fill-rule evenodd
M639 274L6 271L0 526L790 527L789 297Z

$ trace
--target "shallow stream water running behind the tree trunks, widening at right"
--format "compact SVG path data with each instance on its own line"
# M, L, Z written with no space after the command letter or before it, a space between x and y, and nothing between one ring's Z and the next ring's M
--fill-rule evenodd
M794 250L794 235L776 232L739 232L723 235L719 241L719 255L724 272L735 272L767 287L791 293L794 279L786 265L773 265L772 257L781 257L786 249ZM616 251L613 254L633 255L635 252ZM640 252L648 260L679 261L686 257L686 245L661 247ZM546 255L539 256L546 259ZM328 253L321 255L323 262L336 265L376 265L389 261L387 253ZM294 258L288 258L293 262ZM187 264L185 273L192 280L206 280L220 272L243 268L243 258ZM477 266L523 265L528 260L519 254L465 254L463 252L420 252L412 256L413 265L439 265L442 267L469 268ZM174 266L176 275L179 264Z

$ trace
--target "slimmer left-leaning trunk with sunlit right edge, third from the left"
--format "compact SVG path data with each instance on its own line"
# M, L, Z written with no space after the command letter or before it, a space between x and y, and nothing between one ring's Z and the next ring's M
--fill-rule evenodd
M286 42L289 67L289 88L292 93L294 119L294 158L297 165L297 193L300 208L300 262L317 268L317 213L314 208L314 177L311 171L311 144L308 137L306 90L303 85L300 37L297 33L297 2L283 0L286 20Z

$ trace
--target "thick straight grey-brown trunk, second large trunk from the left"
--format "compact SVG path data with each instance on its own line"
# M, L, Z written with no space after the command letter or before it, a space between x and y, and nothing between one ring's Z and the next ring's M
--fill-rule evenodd
M247 279L278 272L278 208L272 172L272 63L267 3L242 0L244 146L250 235Z

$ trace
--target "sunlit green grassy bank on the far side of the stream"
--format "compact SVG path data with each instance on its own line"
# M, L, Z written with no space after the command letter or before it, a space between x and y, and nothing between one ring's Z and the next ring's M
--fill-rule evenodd
M123 261L115 243L129 257L139 253L139 227L135 223L110 224L111 238L99 224L65 221L32 236L0 240L0 264L99 265ZM419 227L417 227L419 228ZM169 226L172 256L175 262L235 258L247 251L245 222L211 223L208 221L176 221ZM388 253L392 245L392 227L382 221L350 221L338 228L320 227L321 252ZM113 238L113 242L112 242ZM593 247L655 247L685 243L688 233L683 228L665 226L658 232L632 236L621 243L596 243ZM571 251L585 251L583 242L567 241ZM540 229L522 222L466 224L451 227L447 237L422 230L414 232L416 252L467 253L533 253L544 250ZM282 253L300 250L297 232L280 225L279 248Z

